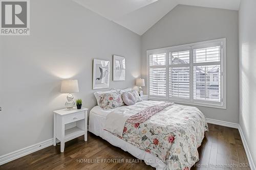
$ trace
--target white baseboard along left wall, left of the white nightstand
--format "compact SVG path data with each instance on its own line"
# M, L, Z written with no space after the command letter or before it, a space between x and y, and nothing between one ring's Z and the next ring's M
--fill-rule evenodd
M49 147L50 145L53 145L53 139L48 139L46 141L33 144L29 147L20 149L18 151L14 151L9 154L0 156L0 165L10 162L14 159L18 159L25 155L31 154L31 153L41 150L43 148Z

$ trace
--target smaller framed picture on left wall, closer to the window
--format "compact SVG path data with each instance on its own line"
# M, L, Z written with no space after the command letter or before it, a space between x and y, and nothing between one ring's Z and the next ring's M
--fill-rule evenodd
M113 55L113 81L125 81L125 58Z

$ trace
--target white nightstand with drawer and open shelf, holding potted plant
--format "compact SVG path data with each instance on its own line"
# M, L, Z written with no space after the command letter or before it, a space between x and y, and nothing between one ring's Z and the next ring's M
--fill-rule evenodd
M87 111L87 108L53 111L53 145L59 139L60 152L64 152L66 141L78 136L84 135L84 141L87 141Z

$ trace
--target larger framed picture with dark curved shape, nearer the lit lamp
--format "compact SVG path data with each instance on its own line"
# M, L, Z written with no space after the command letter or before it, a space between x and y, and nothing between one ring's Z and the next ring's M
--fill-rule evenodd
M93 89L110 87L110 61L93 59Z

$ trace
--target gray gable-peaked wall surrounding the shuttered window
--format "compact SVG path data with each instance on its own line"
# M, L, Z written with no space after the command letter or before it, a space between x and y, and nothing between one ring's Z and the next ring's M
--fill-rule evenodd
M227 109L198 108L207 118L238 123L238 11L178 5L142 35L141 73L145 77L146 50L218 38L226 38Z

